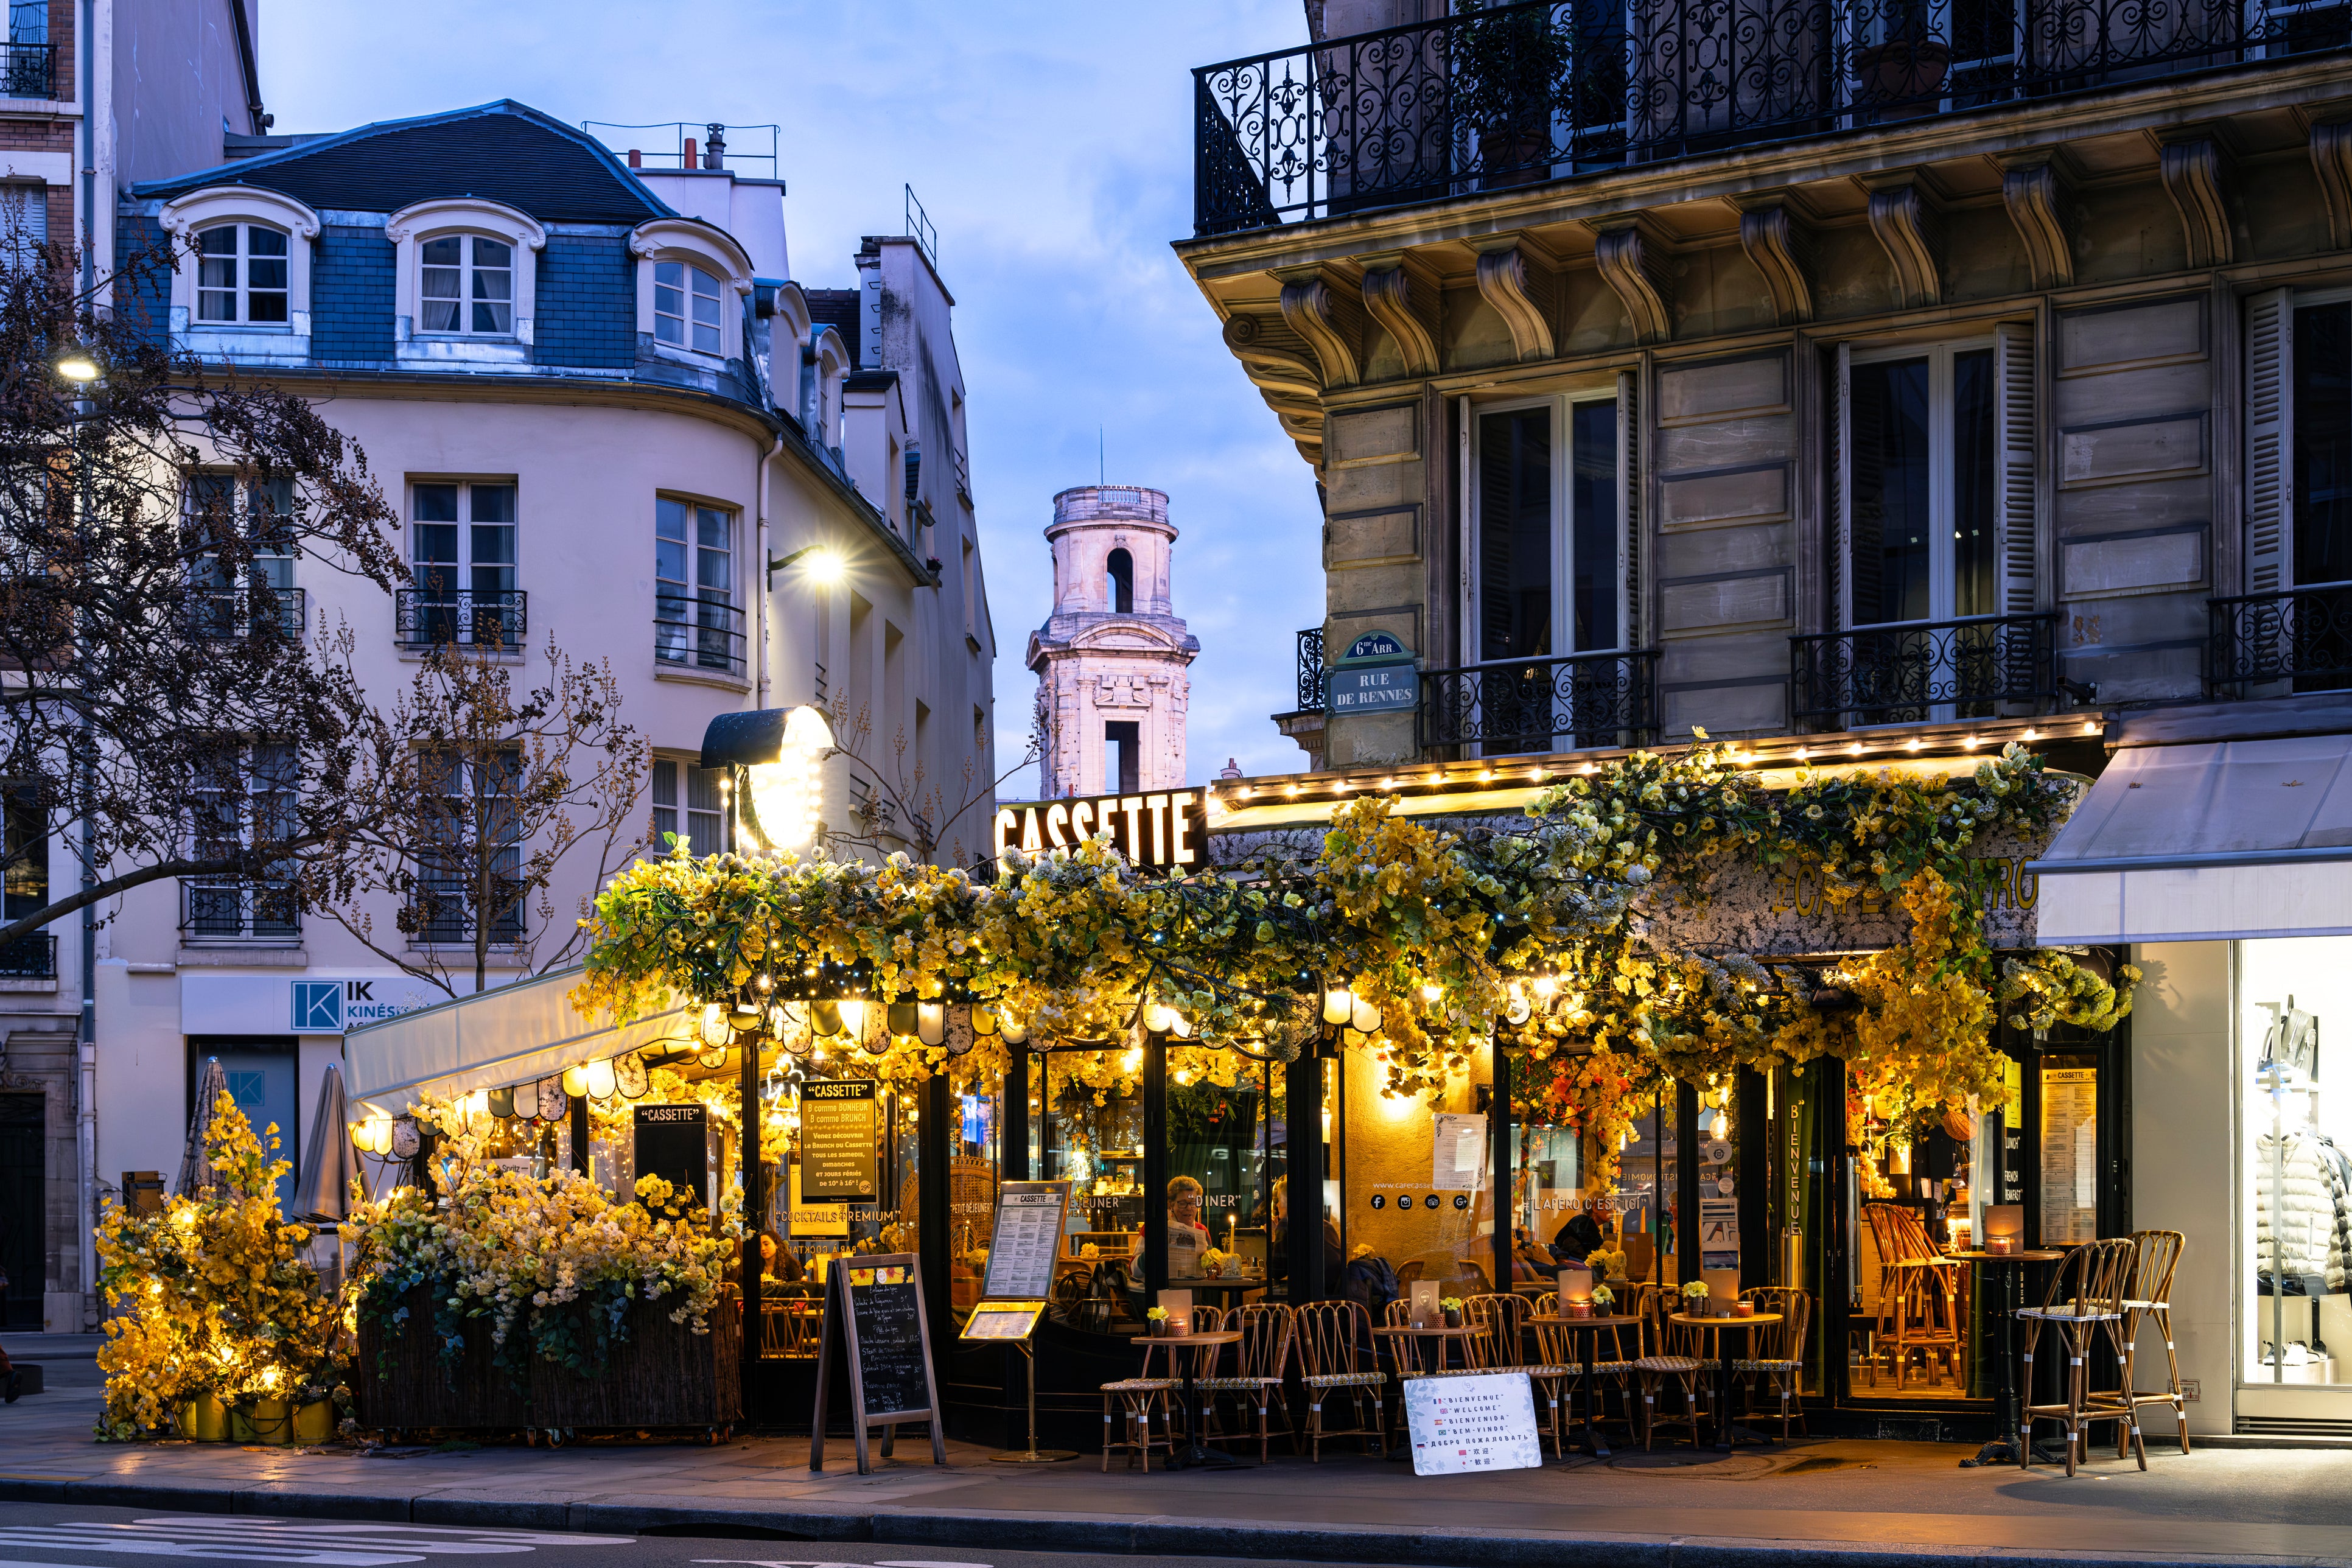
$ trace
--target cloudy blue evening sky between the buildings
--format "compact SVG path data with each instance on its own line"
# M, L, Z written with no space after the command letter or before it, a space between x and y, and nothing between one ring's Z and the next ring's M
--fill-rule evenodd
M793 270L854 284L858 235L938 228L971 393L971 487L997 628L1000 755L1028 729L1056 489L1169 491L1176 611L1200 637L1190 773L1305 755L1294 632L1322 621L1315 480L1216 334L1190 233L1192 66L1303 42L1298 0L661 5L263 0L280 132L520 99L572 120L781 122ZM1035 769L1007 780L1033 795Z

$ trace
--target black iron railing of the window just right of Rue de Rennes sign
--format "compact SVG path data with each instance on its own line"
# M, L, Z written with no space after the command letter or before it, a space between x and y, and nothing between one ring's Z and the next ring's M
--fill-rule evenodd
M1496 658L1421 672L1421 748L1482 755L1642 745L1658 736L1658 651Z

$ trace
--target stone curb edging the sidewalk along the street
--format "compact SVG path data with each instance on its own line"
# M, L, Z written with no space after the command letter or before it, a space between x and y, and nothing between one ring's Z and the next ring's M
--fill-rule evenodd
M129 1481L0 1476L0 1502L143 1507L179 1514L275 1514L593 1535L694 1535L746 1526L779 1540L870 1542L1098 1556L1228 1556L1315 1563L1414 1563L1416 1568L2216 1568L2220 1563L2352 1568L2345 1556L2112 1554L2025 1547L1907 1547L1830 1540L1715 1535L1613 1535L1599 1530L1475 1530L1404 1526L1207 1523L1174 1516L950 1514L946 1509L729 1509L701 1502L524 1502L506 1497L221 1490Z

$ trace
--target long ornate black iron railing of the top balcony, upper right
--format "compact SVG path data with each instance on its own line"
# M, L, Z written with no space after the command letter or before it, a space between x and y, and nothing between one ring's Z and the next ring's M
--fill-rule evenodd
M2338 49L2345 0L1536 0L1202 66L1195 233Z

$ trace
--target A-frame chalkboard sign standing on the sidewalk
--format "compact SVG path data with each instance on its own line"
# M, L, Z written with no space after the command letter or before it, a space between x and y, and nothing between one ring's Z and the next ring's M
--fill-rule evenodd
M826 1467L826 1394L833 1382L833 1347L849 1356L849 1429L856 1439L858 1474L873 1474L868 1432L901 1422L931 1422L931 1462L948 1462L931 1385L931 1321L922 1309L915 1253L835 1258L826 1272L826 1326L816 1347L816 1420L809 1436L809 1469ZM884 1439L882 1453L889 1453Z

